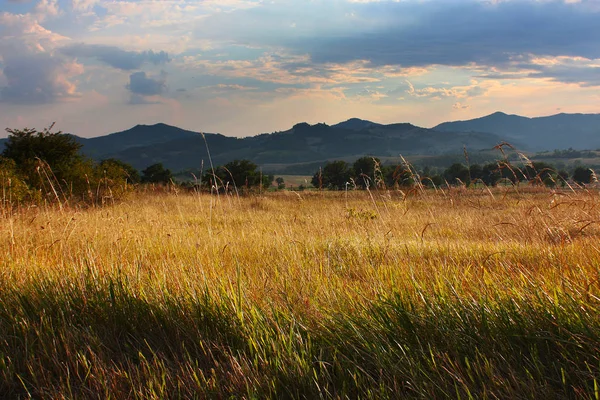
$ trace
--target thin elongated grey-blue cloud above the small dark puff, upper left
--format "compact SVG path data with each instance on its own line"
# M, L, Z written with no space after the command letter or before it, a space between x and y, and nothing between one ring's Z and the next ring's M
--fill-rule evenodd
M116 46L98 44L73 44L63 47L61 52L72 57L94 58L125 71L140 69L146 63L160 65L171 61L168 53L164 51L126 51Z

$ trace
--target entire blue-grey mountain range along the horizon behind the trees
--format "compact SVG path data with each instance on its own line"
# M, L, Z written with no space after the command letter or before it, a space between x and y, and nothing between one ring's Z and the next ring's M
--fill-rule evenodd
M285 165L352 160L363 155L444 155L491 149L507 141L524 151L596 149L600 114L558 114L527 118L497 112L434 128L409 123L378 124L352 118L336 125L299 123L270 134L235 138L183 130L166 124L137 125L95 138L74 136L85 155L118 158L138 169L161 162L174 171L208 168L234 159L249 159L265 170ZM0 148L4 147L0 140ZM210 152L210 157L209 157Z

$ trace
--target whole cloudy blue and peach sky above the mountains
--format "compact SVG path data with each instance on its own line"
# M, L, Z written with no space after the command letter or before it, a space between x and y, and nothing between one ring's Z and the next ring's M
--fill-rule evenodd
M600 0L0 0L3 128L241 137L495 111L600 112Z

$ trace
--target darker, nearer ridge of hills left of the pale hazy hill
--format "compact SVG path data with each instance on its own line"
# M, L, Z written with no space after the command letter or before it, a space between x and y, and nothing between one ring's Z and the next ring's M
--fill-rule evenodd
M411 124L381 125L346 121L334 126L299 123L284 132L234 138L199 133L173 126L138 125L127 131L79 139L83 152L94 158L114 157L143 169L161 162L175 171L208 168L210 149L214 165L249 159L265 170L274 165L322 162L363 155L398 157L399 154L447 154L490 149L502 138L477 132L441 132Z

